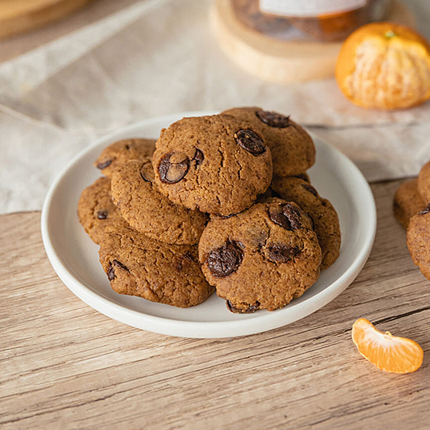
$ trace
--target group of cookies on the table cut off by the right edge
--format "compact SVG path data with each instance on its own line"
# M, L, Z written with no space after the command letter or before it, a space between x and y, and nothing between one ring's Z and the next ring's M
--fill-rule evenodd
M430 280L430 161L417 178L400 185L393 209L396 220L407 230L407 247L414 264Z

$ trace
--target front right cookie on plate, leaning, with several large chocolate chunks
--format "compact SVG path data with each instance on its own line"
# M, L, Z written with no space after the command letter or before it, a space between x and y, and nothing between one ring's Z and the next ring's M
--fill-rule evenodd
M285 306L317 280L321 264L310 219L278 198L211 219L198 253L208 282L240 313Z

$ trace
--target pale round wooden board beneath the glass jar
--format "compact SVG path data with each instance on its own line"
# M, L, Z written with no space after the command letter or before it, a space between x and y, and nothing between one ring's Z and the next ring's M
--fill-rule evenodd
M239 67L271 82L289 84L332 77L342 42L283 41L244 26L230 0L216 0L210 20L218 41ZM394 1L387 21L414 27L412 13Z

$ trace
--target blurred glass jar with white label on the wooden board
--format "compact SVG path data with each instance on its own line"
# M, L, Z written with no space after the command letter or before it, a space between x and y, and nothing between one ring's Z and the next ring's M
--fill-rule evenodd
M266 36L335 42L382 21L391 0L230 0L236 17Z

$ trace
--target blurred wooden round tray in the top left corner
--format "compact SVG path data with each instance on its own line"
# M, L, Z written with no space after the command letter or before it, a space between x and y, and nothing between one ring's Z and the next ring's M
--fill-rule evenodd
M56 21L90 0L1 0L0 40Z

